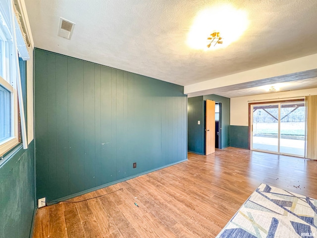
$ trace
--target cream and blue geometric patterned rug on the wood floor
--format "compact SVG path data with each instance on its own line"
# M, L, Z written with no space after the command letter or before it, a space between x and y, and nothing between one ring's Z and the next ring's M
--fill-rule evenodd
M317 200L261 184L216 238L317 238Z

